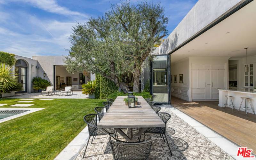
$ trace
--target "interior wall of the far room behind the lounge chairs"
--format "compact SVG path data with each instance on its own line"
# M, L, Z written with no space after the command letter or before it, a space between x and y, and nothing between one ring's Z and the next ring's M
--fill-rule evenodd
M79 72L74 72L74 74L68 73L65 67L56 66L56 76L64 77L64 82L67 84L66 77L72 77L72 85L79 85ZM77 82L74 81L77 78Z

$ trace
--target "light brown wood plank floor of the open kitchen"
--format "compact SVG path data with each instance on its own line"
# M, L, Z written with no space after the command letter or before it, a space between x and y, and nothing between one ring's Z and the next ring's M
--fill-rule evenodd
M234 143L253 149L256 153L256 116L227 107L218 106L218 101L188 102L172 97L173 107L193 117L200 123L218 132Z

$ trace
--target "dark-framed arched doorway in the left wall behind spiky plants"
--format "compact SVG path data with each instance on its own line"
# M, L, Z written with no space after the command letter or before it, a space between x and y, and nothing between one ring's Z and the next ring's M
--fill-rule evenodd
M23 85L23 90L15 93L27 92L27 63L24 60L17 60L15 63L15 76L19 83Z

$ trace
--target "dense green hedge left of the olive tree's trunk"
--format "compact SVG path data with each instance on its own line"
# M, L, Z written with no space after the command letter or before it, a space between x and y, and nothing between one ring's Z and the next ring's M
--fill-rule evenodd
M108 95L117 91L117 86L109 79L96 75L96 91L94 93L95 98L106 99Z

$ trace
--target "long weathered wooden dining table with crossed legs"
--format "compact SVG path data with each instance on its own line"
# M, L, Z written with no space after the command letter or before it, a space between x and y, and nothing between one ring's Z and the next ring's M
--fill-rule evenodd
M124 102L124 98L127 96L118 96L97 127L114 128L128 142L137 140L149 127L165 127L164 122L149 106L148 102L142 96L135 97L138 98L138 104L135 105L135 108L128 108ZM121 128L128 128L128 135ZM133 136L132 128L140 128L140 130Z

